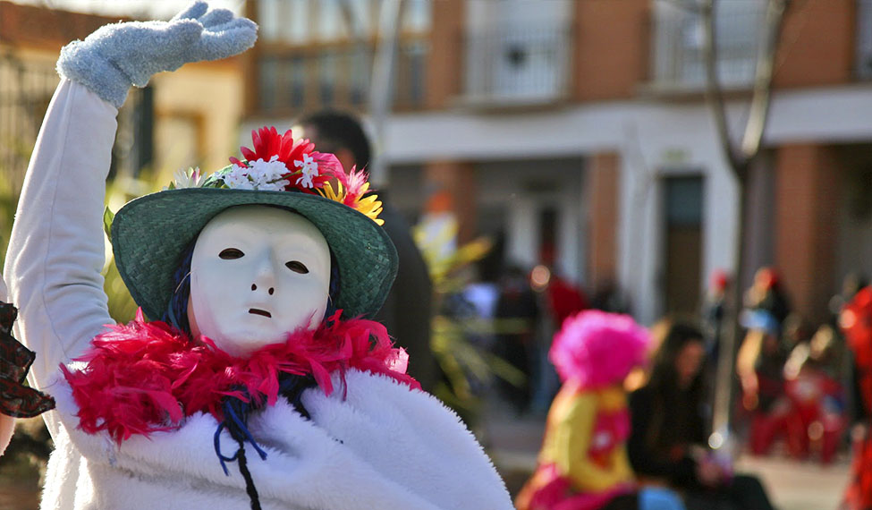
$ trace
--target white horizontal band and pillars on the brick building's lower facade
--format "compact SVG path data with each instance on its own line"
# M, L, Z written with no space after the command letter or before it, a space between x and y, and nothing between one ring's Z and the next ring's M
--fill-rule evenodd
M744 105L733 104L731 111L732 117L740 118ZM872 140L869 112L869 84L779 92L773 100L766 143ZM584 157L604 151L617 152L622 158L619 277L631 293L638 319L651 323L662 311L656 282L663 265L659 176L699 171L705 175L700 281L707 282L716 268L732 269L734 264L736 189L701 101L615 101L501 115L471 110L393 115L386 125L384 145L388 165ZM480 187L478 191L485 192ZM578 191L575 200L580 204ZM520 198L509 212L508 222L518 233L509 250L519 258L535 256L531 242L537 238L530 237L529 229L531 207L529 199ZM578 211L580 216L583 209ZM580 225L559 228L566 233L581 232ZM580 242L576 245L579 257L584 252ZM631 251L639 251L640 256L631 256ZM580 259L571 264L583 266Z

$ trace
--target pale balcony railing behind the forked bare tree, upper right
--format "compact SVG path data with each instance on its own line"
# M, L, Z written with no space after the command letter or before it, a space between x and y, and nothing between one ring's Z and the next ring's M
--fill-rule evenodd
M718 2L715 8L717 76L726 89L754 81L765 6L763 2ZM692 7L657 2L652 76L659 89L702 89L706 83L702 16Z

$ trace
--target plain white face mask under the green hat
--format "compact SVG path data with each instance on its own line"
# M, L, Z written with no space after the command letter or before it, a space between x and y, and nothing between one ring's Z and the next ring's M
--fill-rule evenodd
M212 218L190 260L188 320L195 338L245 355L324 319L330 250L309 220L241 206Z

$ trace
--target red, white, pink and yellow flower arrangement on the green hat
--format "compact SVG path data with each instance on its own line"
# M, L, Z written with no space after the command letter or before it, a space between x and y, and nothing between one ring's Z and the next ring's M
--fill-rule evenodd
M218 187L255 191L298 191L316 194L359 211L377 223L382 202L369 191L368 174L351 169L346 174L333 155L317 152L315 144L294 139L291 130L279 134L275 127L251 132L254 149L241 147L244 159L231 157L232 166L201 179L199 170L177 174L169 189ZM331 181L335 183L331 184Z

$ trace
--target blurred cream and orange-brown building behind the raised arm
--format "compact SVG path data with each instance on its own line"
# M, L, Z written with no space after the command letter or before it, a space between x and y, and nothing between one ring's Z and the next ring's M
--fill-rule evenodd
M117 21L0 2L0 181L13 193L21 188L59 81L55 61L61 47ZM157 75L146 89L132 89L119 113L114 174L135 177L151 169L161 174L158 182L169 182L179 168L227 165L227 157L238 150L242 89L239 59L186 65ZM5 188L0 186L0 191Z

